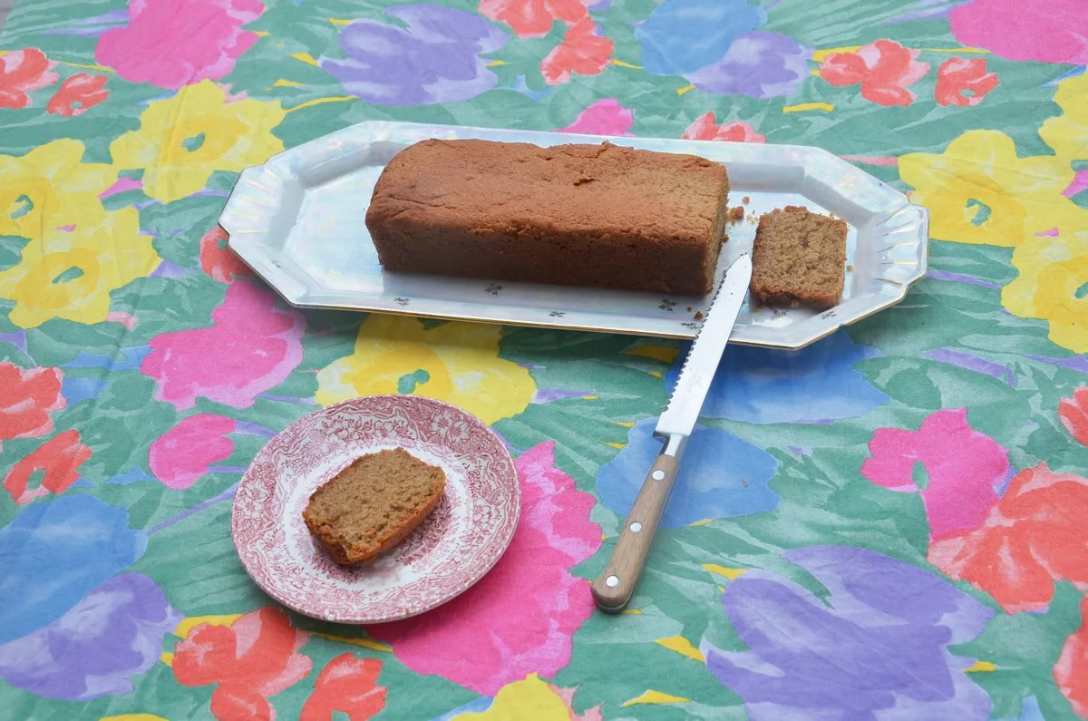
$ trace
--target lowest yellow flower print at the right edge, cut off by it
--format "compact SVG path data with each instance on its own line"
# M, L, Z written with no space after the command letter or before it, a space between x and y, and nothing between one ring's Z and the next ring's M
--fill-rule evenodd
M1019 271L1001 291L1001 303L1021 318L1050 323L1050 340L1088 353L1088 211L1079 230L1037 237L1013 252Z

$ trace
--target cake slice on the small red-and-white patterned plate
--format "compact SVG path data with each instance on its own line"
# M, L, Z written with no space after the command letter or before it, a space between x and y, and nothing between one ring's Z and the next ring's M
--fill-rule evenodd
M354 461L310 497L302 520L337 563L364 563L393 548L434 510L441 468L401 448Z

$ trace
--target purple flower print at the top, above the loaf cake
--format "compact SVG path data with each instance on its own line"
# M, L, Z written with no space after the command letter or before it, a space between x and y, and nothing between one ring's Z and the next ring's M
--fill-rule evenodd
M347 59L321 59L345 93L413 106L468 100L495 87L498 78L480 53L498 50L508 36L484 17L442 5L398 5L385 14L407 28L357 20L339 35Z

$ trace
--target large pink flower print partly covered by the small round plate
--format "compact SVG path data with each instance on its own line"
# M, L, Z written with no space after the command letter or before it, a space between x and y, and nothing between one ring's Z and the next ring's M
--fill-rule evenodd
M601 528L589 520L593 497L555 467L554 442L516 465L521 520L491 573L434 611L368 628L412 671L489 696L567 665L570 638L593 613L589 582L570 573L601 546Z

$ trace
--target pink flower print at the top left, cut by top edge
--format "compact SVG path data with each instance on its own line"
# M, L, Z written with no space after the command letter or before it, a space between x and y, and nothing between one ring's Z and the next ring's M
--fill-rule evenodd
M102 35L95 59L126 81L170 89L220 80L257 42L242 26L263 11L259 0L131 0L128 24Z

